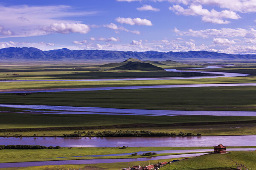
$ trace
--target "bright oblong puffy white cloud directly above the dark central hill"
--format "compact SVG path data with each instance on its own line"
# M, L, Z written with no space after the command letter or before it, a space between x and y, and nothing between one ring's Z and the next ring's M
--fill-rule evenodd
M118 17L116 18L116 22L118 23L125 23L125 24L129 24L131 26L133 25L138 25L138 26L153 26L150 20L146 20L146 19L141 19L141 18L121 18Z

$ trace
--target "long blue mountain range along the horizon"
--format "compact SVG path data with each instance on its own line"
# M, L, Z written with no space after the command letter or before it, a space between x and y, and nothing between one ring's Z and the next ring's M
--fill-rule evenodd
M158 52L158 51L105 51L105 50L58 50L42 51L38 48L2 48L0 60L4 61L123 61L128 58L140 60L204 60L204 59L256 59L253 54L225 54L209 51Z

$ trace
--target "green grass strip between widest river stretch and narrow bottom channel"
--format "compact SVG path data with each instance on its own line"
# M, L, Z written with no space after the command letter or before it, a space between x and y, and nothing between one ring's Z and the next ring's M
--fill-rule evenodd
M251 147L228 147L228 148L256 148ZM54 161L54 160L78 160L78 159L127 159L142 158L151 156L101 156L119 153L135 153L139 151L157 151L157 150L190 150L190 149L213 149L213 147L63 147L61 149L35 149L35 150L0 150L0 163L8 162L27 162L27 161ZM189 152L188 152L189 153ZM191 152L192 153L192 152ZM203 152L197 152L203 153ZM187 153L161 153L156 156L177 155ZM86 157L72 157L86 156ZM88 156L88 157L87 157ZM71 158L70 158L71 157Z

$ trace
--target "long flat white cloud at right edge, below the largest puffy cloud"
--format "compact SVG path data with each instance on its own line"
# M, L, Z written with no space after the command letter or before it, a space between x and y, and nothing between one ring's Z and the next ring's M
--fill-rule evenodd
M243 29L243 28L221 28L221 29L205 29L205 30L192 30L180 31L177 28L174 30L177 35L192 36L192 37L248 37L256 38L256 29Z

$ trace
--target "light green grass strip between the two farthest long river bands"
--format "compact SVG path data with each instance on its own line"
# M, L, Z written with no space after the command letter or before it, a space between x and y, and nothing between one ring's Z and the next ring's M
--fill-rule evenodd
M218 83L256 83L256 77L222 77L211 79L173 79L173 80L132 80L132 81L44 81L44 82L0 82L1 89L52 89L52 88L96 88L147 85L187 85Z

